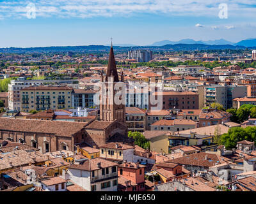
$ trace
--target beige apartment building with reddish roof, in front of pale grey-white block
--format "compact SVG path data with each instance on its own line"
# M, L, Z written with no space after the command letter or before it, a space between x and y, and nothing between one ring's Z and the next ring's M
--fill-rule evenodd
M72 91L73 89L67 86L26 87L20 90L21 110L29 112L30 110L71 108Z

